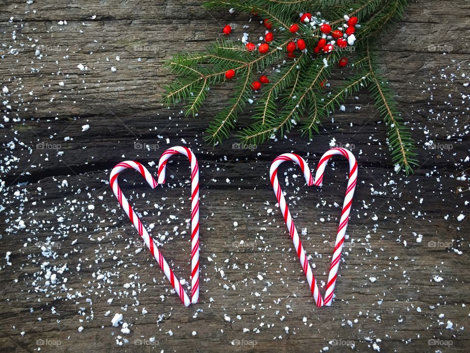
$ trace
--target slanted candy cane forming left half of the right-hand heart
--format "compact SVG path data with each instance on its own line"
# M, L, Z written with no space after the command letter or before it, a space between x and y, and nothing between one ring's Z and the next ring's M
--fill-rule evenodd
M282 189L278 181L278 168L281 163L285 161L293 161L300 166L302 172L304 173L305 181L307 182L308 186L313 185L313 177L310 173L310 169L308 169L308 165L305 160L301 156L294 153L281 154L273 161L269 170L271 184L273 185L274 193L276 194L276 198L278 199L279 208L281 208L285 224L287 226L287 229L289 230L290 237L294 242L294 247L297 252L297 255L299 256L300 263L304 270L305 276L307 277L308 285L310 286L310 291L313 294L313 299L315 300L316 305L320 307L323 306L323 298L320 294L320 290L317 286L315 277L313 276L310 263L307 260L304 247L302 246L302 242L300 241L299 234L297 233L297 228L295 227L294 220L292 219L292 216L289 212L289 208L287 206L287 203L285 202L284 194L282 193Z

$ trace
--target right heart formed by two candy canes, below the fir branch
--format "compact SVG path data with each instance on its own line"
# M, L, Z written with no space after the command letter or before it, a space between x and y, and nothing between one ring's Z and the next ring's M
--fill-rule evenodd
M297 233L297 228L295 227L294 220L292 219L292 216L290 214L289 207L285 202L284 194L282 192L281 185L278 181L278 168L282 162L293 161L297 163L302 169L302 172L305 176L305 181L307 182L308 186L322 186L323 175L328 160L336 154L343 155L344 157L346 157L346 159L348 159L349 180L348 186L346 188L346 194L344 197L343 210L341 211L338 232L336 234L336 241L333 249L333 257L331 259L331 265L329 268L325 299L323 299L322 295L320 294L320 290L317 286L315 277L313 276L310 263L307 260L304 247L302 246L302 242L299 238L299 234ZM313 299L315 300L315 303L318 307L323 305L331 306L331 302L333 300L334 285L336 283L336 277L338 274L339 261L341 259L341 253L343 250L344 236L346 234L346 228L348 227L349 214L352 205L352 196L354 195L354 189L356 187L357 182L356 158L350 151L345 150L343 148L330 149L325 154L323 154L322 158L320 159L320 162L318 162L317 172L315 174L315 181L313 181L313 177L310 172L310 169L308 168L307 162L305 162L305 160L301 156L294 153L284 153L278 156L271 164L269 176L271 179L271 184L274 188L274 193L276 194L276 198L279 202L279 208L281 208L282 215L284 216L285 224L287 226L287 229L289 230L290 237L294 242L294 247L297 251L297 255L299 256L299 260L304 270L305 276L307 277L308 285L310 286L310 291L313 294Z

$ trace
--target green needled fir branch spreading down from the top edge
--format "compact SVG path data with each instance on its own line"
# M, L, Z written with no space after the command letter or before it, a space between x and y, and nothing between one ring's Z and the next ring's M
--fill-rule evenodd
M235 96L225 109L215 115L205 137L212 143L220 142L235 128L237 116L247 101L251 103L254 98L251 79L268 67L278 65L269 76L270 83L263 85L261 96L254 102L254 122L244 127L239 135L244 142L258 144L289 131L299 122L302 122L303 134L311 138L313 131L319 131L323 117L334 112L349 95L368 87L387 125L386 140L392 150L392 161L409 174L411 166L417 163L411 133L369 50L369 43L379 38L380 31L402 16L406 3L406 0L209 0L204 5L208 9L234 8L240 12L257 12L260 19L267 19L282 30L275 32L275 41L270 43L265 54L249 52L240 43L222 39L204 53L175 55L167 65L169 71L179 78L165 88L164 101L168 105L186 101L186 115L195 116L207 99L210 88L224 83L225 73L235 70L232 82ZM342 54L336 50L329 53L329 68L323 64L327 58L325 54L313 54L322 33L318 22L313 26L298 22L299 13L305 11L313 14L321 11L333 29L342 29L344 15L358 17L361 25L355 33L356 55L350 63L352 75L326 97L320 83L331 76L333 64ZM292 23L300 25L297 35L284 30ZM296 37L305 40L307 50L292 62L283 61L286 44Z

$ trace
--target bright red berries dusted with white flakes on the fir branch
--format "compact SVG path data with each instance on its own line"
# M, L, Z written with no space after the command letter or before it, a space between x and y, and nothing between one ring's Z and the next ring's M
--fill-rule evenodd
M320 31L322 32L322 36L320 40L317 42L316 47L313 49L313 52L315 54L319 54L321 52L323 53L329 53L335 48L340 48L344 49L348 45L352 46L354 44L354 41L356 40L356 37L354 36L354 32L356 31L357 27L360 27L360 25L357 24L357 17L349 17L347 15L344 16L345 23L341 26L338 26L336 29L333 29L331 25L325 22L325 20L321 20L317 17L312 16L311 13L301 13L300 14L300 23L302 25L310 25L313 29L319 28ZM257 46L254 43L247 42L245 44L245 48L248 51L255 51L258 49L259 53L265 54L269 51L269 43L271 43L274 40L274 35L272 32L270 32L270 29L272 28L272 24L268 19L263 20L263 25L266 27L266 33L264 34L264 43L261 43ZM298 35L299 30L301 27L299 24L292 24L289 27L289 31L294 34L295 36ZM232 27L230 25L226 25L223 29L222 32L225 35L230 35L232 32ZM287 56L289 58L295 58L295 50L300 50L306 52L306 43L305 40L302 38L294 38L292 41L287 43L286 45L286 51L287 51ZM348 64L348 58L342 57L339 62L338 66L339 67L345 67ZM225 73L225 78L227 79L232 79L235 76L235 71L234 70L228 70ZM263 81L265 80L265 82ZM268 83L269 79L266 76L261 76L259 81L255 81L252 83L252 88L255 91L258 91L261 88L261 83Z

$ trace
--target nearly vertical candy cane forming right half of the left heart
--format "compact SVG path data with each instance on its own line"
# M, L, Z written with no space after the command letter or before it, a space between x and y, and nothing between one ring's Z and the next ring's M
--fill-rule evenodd
M181 146L163 152L158 162L158 183L164 184L166 163L173 154L184 154L191 164L191 303L199 300L199 167L194 153Z

